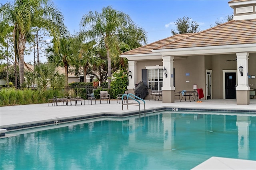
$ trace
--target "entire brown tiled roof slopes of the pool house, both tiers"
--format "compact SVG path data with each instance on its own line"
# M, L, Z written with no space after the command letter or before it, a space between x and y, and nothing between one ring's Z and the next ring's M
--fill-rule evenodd
M256 43L256 19L232 20L199 33L174 35L127 51L122 53L122 55L153 53L152 49L177 49L250 43Z

